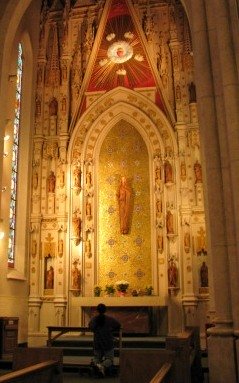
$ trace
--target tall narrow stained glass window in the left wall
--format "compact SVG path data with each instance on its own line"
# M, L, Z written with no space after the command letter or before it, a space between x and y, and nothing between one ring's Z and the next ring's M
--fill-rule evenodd
M8 266L14 267L15 241L16 241L16 208L17 208L17 176L18 176L18 154L19 154L19 132L21 115L22 96L22 44L18 44L17 56L17 84L15 96L15 118L13 126L13 149L12 149L12 174L11 174L11 200L10 200L10 221L8 241Z

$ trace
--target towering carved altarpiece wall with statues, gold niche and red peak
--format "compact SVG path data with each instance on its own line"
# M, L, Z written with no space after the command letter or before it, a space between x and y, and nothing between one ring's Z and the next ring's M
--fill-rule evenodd
M51 3L37 59L30 342L47 325L80 325L80 308L97 299L157 306L159 316L167 308L169 332L204 328L208 255L184 10L177 0ZM96 284L119 280L126 297L94 298Z

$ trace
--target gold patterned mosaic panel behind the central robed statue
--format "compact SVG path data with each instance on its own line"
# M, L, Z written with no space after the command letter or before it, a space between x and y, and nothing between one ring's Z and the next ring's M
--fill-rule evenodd
M129 289L152 283L149 157L146 145L126 121L106 136L99 158L99 275L106 284L127 280ZM120 233L117 191L125 176L132 188L129 234Z

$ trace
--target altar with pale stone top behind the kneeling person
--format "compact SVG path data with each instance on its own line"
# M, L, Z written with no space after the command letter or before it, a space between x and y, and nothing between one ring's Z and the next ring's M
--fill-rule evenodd
M80 326L87 326L99 303L107 307L107 314L116 318L125 335L156 335L160 310L165 301L157 296L140 297L80 297Z

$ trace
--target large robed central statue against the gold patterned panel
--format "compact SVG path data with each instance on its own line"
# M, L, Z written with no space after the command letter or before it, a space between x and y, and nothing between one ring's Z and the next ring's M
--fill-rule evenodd
M128 234L131 189L125 177L121 178L117 199L119 203L120 232L121 234Z

